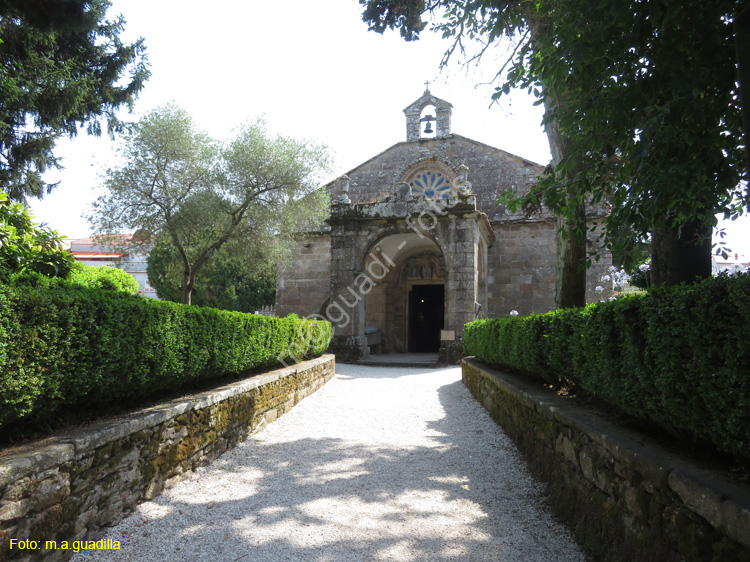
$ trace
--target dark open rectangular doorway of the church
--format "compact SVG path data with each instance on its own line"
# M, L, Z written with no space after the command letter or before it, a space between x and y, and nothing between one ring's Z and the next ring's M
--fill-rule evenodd
M409 351L434 353L440 349L444 308L444 285L412 287L409 293Z

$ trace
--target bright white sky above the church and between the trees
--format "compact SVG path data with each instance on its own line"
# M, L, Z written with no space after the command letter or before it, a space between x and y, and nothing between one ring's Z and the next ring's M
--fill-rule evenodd
M430 91L453 104L454 133L546 164L541 109L524 93L490 107L489 81L498 52L468 72L438 70L448 43L423 33L412 43L397 33L368 32L357 0L114 0L110 15L126 20L124 40L144 37L152 76L135 105L137 120L174 101L217 138L263 116L269 129L328 145L334 179L406 140L402 110ZM101 173L116 164L113 144L85 134L58 144L65 170L32 212L68 238L90 235L81 217L102 193ZM740 222L740 221L738 221ZM750 254L750 220L729 225L728 245Z

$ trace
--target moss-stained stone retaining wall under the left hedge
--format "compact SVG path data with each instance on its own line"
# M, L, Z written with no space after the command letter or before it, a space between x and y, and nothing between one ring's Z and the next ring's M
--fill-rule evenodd
M325 355L0 453L0 560L66 560L72 550L45 551L46 541L98 539L136 504L288 412L334 368ZM11 539L40 548L11 549Z

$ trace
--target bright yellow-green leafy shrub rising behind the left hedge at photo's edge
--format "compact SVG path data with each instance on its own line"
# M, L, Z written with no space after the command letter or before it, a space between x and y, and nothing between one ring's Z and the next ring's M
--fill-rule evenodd
M22 272L65 277L74 263L59 234L36 226L24 205L0 193L0 281Z

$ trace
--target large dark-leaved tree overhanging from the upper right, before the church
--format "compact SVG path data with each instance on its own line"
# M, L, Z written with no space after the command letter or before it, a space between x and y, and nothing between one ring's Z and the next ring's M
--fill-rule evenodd
M381 13L393 4L361 2ZM714 215L736 216L750 199L732 26L742 0L395 3L441 10L448 56L466 37L516 41L496 97L524 87L546 104L558 152L540 183L548 205L574 219L582 203L606 200L616 252L623 228L650 233L654 285L710 275Z

